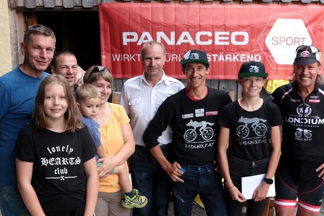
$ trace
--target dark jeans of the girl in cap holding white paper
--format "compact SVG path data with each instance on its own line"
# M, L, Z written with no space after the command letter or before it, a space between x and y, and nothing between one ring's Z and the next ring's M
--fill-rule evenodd
M241 189L241 178L248 176L255 176L265 174L268 168L269 158L249 161L239 159L237 157L231 157L228 162L229 173L235 187ZM228 216L240 216L242 212L243 203L237 202L231 199L228 189L225 187L225 200L226 200L226 211ZM255 202L253 199L247 200L247 216L260 216L262 215L266 200Z

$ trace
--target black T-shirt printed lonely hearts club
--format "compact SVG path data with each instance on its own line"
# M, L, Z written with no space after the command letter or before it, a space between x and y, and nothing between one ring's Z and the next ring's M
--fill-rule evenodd
M86 202L83 163L96 154L86 126L74 133L56 133L36 129L30 122L19 133L15 154L19 160L33 162L31 185L45 212Z

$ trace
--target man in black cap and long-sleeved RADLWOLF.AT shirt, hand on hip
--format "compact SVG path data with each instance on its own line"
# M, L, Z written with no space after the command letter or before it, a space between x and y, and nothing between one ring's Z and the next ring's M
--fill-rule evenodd
M206 52L186 52L181 65L188 85L160 105L143 141L174 182L175 215L190 215L197 194L208 215L225 215L221 176L213 162L217 155L218 116L231 99L224 91L206 87L206 75L211 69ZM173 130L174 162L165 158L157 142L169 124Z

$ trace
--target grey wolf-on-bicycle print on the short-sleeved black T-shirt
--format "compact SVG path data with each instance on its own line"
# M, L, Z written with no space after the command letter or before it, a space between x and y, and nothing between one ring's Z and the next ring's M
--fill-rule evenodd
M244 123L244 124L239 125L237 127L237 129L236 129L237 136L240 138L248 137L249 133L250 133L248 124L252 123L252 125L251 125L252 131L254 131L254 133L257 136L263 137L265 135L265 133L267 132L267 126L264 123L260 123L260 121L267 122L267 120L264 120L262 118L245 118L245 117L241 116L237 120L237 122Z

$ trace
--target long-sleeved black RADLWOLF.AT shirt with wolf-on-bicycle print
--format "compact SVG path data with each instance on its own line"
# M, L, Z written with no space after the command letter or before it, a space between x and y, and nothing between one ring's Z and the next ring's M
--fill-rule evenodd
M217 120L223 107L231 102L229 95L208 88L207 96L194 100L186 89L168 97L158 108L144 132L145 146L158 144L157 138L170 124L174 159L189 165L213 163L217 155L219 126Z

